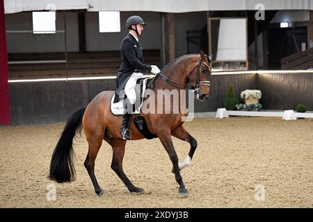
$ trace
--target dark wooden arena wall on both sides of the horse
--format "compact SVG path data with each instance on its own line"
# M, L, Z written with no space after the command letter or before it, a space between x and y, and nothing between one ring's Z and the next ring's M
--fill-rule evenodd
M244 89L262 90L266 110L294 109L305 103L313 110L313 73L307 74L214 74L207 101L195 101L195 112L215 112L223 107L227 87L234 85L240 99ZM115 80L75 80L38 83L10 83L12 125L66 121L70 114L87 105L103 90L115 89Z

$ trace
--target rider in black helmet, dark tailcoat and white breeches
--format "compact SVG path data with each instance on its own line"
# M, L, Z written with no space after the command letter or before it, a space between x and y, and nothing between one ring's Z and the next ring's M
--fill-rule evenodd
M143 78L141 71L148 71L152 74L159 74L160 69L156 65L145 65L143 60L143 48L139 43L138 37L143 33L143 26L145 26L143 19L137 15L131 16L126 21L126 28L129 33L122 40L120 46L121 65L118 70L117 89L115 101L117 102L122 89L125 89L125 94L130 104L136 102L136 80ZM125 103L125 110L122 117L122 126L120 128L120 135L123 139L131 139L129 130L130 113L127 112L127 103Z

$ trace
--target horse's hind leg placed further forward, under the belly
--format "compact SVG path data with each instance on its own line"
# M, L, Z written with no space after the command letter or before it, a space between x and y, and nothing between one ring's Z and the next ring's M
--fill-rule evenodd
M105 138L106 139L106 138ZM144 189L135 187L129 178L125 175L123 171L123 157L125 153L125 145L126 141L124 139L111 139L111 140L106 140L106 142L109 142L109 144L112 146L113 149L113 158L112 158L112 164L111 168L115 173L118 175L118 177L124 182L126 185L127 189L131 192L142 192Z

